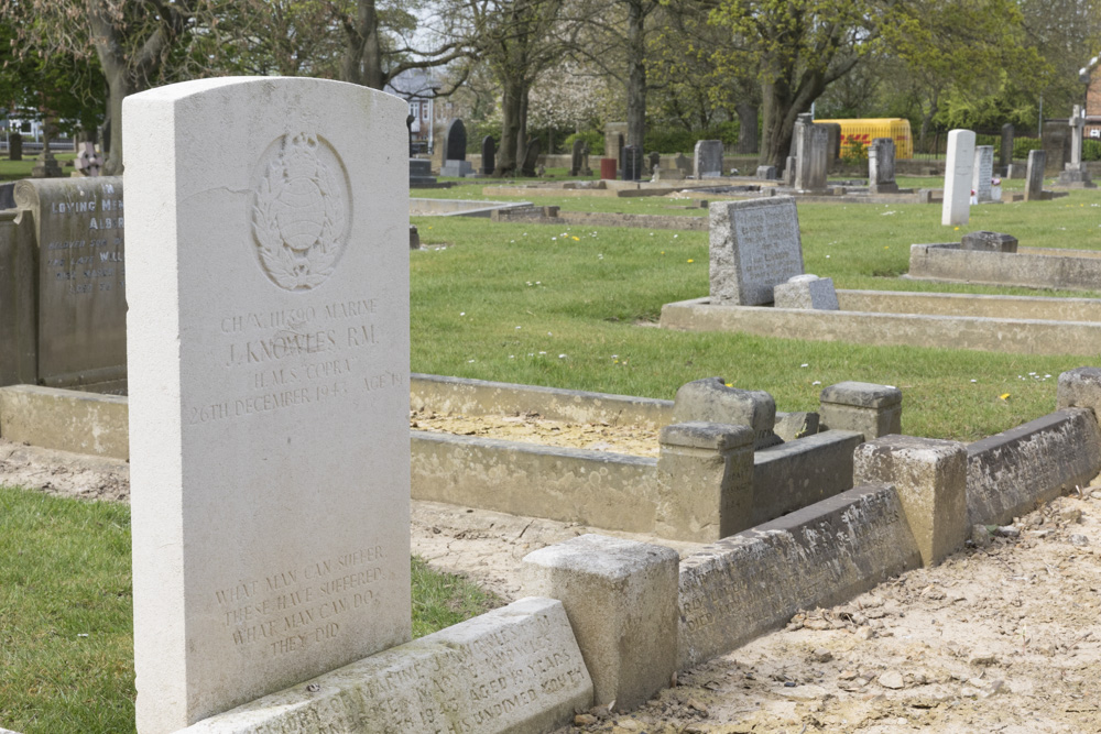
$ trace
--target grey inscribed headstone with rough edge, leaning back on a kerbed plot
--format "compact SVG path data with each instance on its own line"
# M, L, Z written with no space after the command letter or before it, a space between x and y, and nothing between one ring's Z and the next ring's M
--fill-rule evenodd
M712 303L772 303L776 284L803 274L803 242L793 197L717 201L709 218Z

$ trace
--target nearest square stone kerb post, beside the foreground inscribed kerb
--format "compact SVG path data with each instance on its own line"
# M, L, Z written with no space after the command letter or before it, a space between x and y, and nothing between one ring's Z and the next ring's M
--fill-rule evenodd
M524 592L562 600L597 704L631 710L668 686L677 665L678 562L672 548L600 535L524 557Z

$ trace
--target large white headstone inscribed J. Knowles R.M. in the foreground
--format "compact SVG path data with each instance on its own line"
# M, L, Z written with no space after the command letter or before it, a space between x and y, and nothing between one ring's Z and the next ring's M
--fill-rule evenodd
M410 638L406 113L285 77L124 101L141 734Z

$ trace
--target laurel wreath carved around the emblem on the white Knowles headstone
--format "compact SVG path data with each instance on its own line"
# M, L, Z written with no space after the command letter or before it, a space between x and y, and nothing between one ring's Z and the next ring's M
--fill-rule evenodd
M288 183L283 176L282 158L268 164L268 171L255 190L252 232L259 245L260 261L272 281L287 291L309 289L324 283L336 270L342 248L347 217L340 184L333 169L319 162L312 180L321 193L324 221L317 242L299 255L283 241L274 211Z

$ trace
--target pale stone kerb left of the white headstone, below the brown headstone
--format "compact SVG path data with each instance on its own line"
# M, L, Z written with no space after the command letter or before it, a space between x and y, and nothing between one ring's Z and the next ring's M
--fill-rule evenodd
M74 390L0 388L0 436L47 449L130 459L127 398Z

